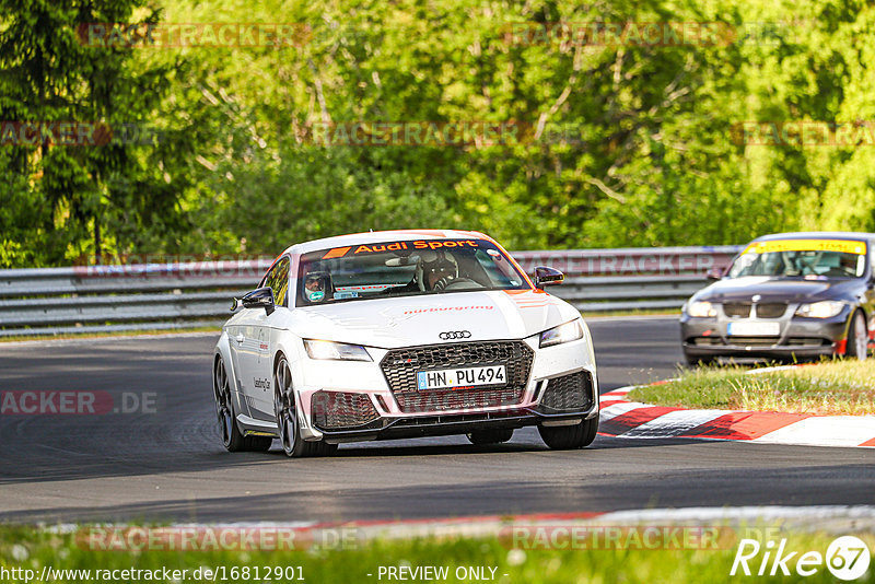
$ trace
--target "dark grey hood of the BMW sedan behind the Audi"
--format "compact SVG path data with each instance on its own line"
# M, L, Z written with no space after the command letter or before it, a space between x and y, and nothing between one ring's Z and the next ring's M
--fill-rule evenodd
M843 296L856 284L856 280L791 280L749 276L714 282L693 297L697 301L750 302L752 296L759 295L759 302L812 302Z

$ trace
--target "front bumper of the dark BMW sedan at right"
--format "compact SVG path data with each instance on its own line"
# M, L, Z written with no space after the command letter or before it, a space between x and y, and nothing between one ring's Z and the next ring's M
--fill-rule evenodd
M688 358L761 357L775 359L816 358L844 352L850 309L832 318L804 318L788 315L780 323L778 336L737 337L727 334L730 323L740 322L722 313L715 318L680 318L680 338Z

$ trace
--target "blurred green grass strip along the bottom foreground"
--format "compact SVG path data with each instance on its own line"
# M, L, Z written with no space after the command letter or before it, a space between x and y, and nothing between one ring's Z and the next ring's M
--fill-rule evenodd
M848 534L842 534L848 535ZM858 534L868 545L875 547L872 534ZM788 534L780 532L778 539L788 538L788 550L816 550L826 553L835 535ZM766 538L762 538L766 539ZM765 549L766 541L761 541ZM736 576L728 573L736 553L736 540L709 550L641 550L641 549L575 549L575 550L522 550L511 549L508 540L498 538L452 538L378 540L360 544L357 549L334 551L93 551L88 546L77 544L73 535L54 535L44 530L24 527L0 527L0 565L26 568L42 573L43 567L54 569L187 569L189 573L201 567L225 567L242 569L256 567L300 567L310 583L368 583L387 582L385 575L377 579L381 565L445 565L451 576L446 582L458 582L453 576L457 567L493 567L495 582L501 583L700 583L700 582L835 582L835 579L820 567L817 574L800 579L795 573L790 577ZM761 554L760 554L761 558ZM796 559L798 554L796 556ZM759 560L751 561L756 571ZM792 571L795 560L788 564ZM226 572L228 573L228 572ZM368 576L368 574L373 574ZM252 573L250 573L252 574ZM506 575L504 575L506 574ZM37 576L38 579L38 576ZM22 580L8 579L9 582ZM80 582L81 577L58 579L56 582ZM142 581L142 580L141 580ZM221 577L218 580L221 582ZM229 582L265 582L243 577L229 579ZM275 580L271 580L271 582ZM184 580L183 582L198 582ZM279 580L279 582L294 582ZM875 582L875 570L856 582Z

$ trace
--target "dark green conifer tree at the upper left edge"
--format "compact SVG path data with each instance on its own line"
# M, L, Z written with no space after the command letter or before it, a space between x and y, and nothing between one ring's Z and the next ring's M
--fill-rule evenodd
M9 171L0 229L9 249L26 250L22 259L100 260L107 248L133 245L150 231L184 227L178 200L190 178L171 171L192 137L156 115L184 62L150 61L126 44L100 46L80 36L90 23L136 24L131 16L145 4L0 0L0 120L12 122L7 129L49 129L34 143L19 132L0 154ZM158 11L147 12L138 22L158 20ZM58 133L71 122L74 132L97 128L94 136L106 136L109 128L113 138L83 136L68 145ZM154 125L162 133L147 138Z

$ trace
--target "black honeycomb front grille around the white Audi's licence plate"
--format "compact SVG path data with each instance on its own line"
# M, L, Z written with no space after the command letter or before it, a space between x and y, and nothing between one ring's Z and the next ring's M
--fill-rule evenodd
M380 366L401 411L419 413L516 405L523 398L534 357L532 349L522 341L459 342L393 349ZM417 389L420 371L483 365L504 365L506 384L454 390Z

